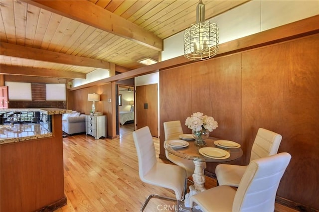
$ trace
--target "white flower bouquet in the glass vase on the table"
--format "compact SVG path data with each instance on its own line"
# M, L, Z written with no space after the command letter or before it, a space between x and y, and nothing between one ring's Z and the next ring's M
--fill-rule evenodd
M190 117L187 117L185 125L193 131L207 129L209 132L218 127L218 123L213 117L204 115L202 112L194 112Z

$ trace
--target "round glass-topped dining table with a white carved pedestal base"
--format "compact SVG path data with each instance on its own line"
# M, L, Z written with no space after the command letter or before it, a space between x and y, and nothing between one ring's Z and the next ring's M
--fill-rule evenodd
M205 183L205 176L204 176L204 168L205 168L205 163L206 162L215 162L215 163L223 163L227 161L232 161L240 158L243 155L243 150L239 147L222 147L219 145L214 144L214 141L216 140L221 140L218 138L209 138L206 139L206 146L197 146L194 144L195 140L184 140L188 142L188 146L185 147L173 147L169 145L169 140L166 140L164 142L164 148L167 150L169 153L176 155L181 158L185 158L188 160L192 160L195 164L195 170L192 175L194 185L190 186L190 195L197 194L198 192L206 190L204 187ZM227 152L226 157L219 157L219 158L212 158L209 156L204 156L203 154L200 153L200 149L204 147L215 147L218 149L223 149ZM202 151L201 151L202 152ZM229 153L229 154L228 154ZM186 197L186 199L188 199ZM187 201L185 199L185 206L187 205Z

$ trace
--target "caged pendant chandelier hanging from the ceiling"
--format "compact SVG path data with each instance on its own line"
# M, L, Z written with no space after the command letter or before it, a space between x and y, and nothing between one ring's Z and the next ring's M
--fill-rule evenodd
M216 23L205 22L205 5L201 0L196 10L196 24L184 33L184 56L189 60L206 60L218 52L219 31Z

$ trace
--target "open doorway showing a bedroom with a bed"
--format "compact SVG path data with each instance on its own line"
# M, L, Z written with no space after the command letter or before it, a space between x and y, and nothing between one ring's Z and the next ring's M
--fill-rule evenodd
M131 85L121 84L117 88L117 134L121 136L121 129L135 129L135 90Z

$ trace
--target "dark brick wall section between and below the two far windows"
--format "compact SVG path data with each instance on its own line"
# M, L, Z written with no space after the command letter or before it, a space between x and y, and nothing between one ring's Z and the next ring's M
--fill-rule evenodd
M45 83L31 83L32 101L9 101L9 108L61 108L66 101L46 101Z

